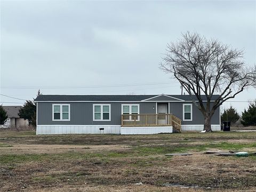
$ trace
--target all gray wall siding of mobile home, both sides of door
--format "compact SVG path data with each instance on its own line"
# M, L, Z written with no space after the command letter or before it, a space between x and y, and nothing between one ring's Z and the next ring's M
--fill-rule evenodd
M111 121L93 121L93 104L103 102L37 102L38 125L121 125L122 104L139 104L140 114L156 114L156 102L104 102L111 105ZM161 102L158 102L161 103ZM183 119L183 103L170 102L170 113ZM186 102L192 103L192 102ZM52 104L70 104L70 121L52 121ZM193 104L193 121L182 121L183 125L202 125L204 118ZM215 111L211 124L220 124L219 109Z

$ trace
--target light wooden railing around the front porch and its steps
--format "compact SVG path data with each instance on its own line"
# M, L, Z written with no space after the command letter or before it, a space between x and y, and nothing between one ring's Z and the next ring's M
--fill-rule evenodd
M122 115L122 126L173 126L180 131L181 119L172 114L133 114Z

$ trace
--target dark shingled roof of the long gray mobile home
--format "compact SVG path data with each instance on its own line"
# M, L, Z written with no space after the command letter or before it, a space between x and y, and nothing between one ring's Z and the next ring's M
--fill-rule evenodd
M158 95L39 95L35 101L141 101ZM195 95L168 95L177 99L191 101ZM213 95L212 100L219 95ZM205 95L201 95L206 100Z

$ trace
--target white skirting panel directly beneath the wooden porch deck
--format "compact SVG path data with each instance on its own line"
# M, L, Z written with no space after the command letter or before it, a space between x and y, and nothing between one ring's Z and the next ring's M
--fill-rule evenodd
M172 133L172 126L121 127L121 134Z

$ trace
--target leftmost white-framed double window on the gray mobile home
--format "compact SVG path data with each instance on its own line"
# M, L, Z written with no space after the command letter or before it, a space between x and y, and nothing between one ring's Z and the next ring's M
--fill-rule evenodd
M53 104L52 121L70 121L70 104Z

